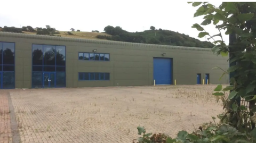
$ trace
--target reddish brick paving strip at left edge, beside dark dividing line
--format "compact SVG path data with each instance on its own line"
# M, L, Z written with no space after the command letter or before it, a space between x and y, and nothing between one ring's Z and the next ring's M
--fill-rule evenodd
M8 90L0 90L0 143L12 142Z

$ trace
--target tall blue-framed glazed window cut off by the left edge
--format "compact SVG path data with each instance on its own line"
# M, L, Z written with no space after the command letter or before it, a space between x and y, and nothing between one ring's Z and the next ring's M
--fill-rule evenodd
M0 89L15 88L15 44L0 42Z

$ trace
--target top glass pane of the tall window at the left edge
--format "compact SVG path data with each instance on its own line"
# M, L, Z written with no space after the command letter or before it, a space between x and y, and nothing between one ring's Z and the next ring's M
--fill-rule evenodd
M3 64L14 64L14 43L3 43Z

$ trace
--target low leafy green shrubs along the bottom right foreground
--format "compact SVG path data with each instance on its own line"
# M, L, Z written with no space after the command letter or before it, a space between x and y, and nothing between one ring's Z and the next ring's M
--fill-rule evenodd
M199 127L199 130L192 133L180 131L176 138L168 137L166 134L162 133L146 133L146 129L144 127L138 127L137 129L138 134L142 134L142 137L133 140L133 143L135 143L136 140L137 143L254 143L256 141L256 129L250 133L242 133L227 124L205 124L204 128Z

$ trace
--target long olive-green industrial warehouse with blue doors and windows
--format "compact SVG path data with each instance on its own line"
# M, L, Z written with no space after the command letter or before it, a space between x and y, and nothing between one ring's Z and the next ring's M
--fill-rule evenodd
M209 48L0 32L0 83L8 88L228 83L228 57Z

